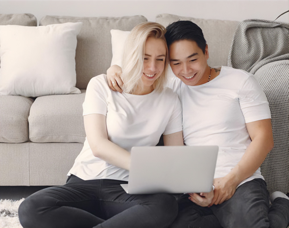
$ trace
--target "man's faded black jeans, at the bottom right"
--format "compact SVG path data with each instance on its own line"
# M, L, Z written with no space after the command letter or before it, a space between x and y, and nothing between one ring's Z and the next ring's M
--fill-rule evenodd
M257 178L240 185L229 200L201 207L182 195L179 214L171 227L286 227L289 200L276 198L269 208L264 180Z

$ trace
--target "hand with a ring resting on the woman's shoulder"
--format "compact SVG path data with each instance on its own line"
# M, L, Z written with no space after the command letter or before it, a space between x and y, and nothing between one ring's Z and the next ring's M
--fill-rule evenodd
M122 69L118 65L112 65L106 71L106 79L108 80L108 86L113 91L123 92L123 81L121 80Z

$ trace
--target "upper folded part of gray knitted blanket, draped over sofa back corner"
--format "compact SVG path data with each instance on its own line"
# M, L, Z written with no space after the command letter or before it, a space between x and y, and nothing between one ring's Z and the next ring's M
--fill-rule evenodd
M289 24L248 19L236 28L228 66L252 74L266 63L289 59Z

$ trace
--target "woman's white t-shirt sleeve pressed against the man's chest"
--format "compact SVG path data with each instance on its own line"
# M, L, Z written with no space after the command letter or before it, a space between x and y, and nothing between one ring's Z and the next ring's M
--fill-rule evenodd
M180 132L183 130L183 127L182 127L183 117L182 117L182 110L181 110L181 102L179 98L177 97L177 95L176 94L174 95L175 95L174 96L175 103L173 107L173 112L168 121L168 124L166 125L166 129L163 133L164 135L173 134L175 132Z

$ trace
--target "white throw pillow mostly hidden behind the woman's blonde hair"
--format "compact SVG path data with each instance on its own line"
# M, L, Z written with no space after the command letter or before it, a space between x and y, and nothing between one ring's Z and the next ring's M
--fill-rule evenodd
M125 40L130 31L121 31L118 29L110 30L111 34L111 44L112 44L112 65L119 65L122 67L122 59L123 59L123 48L125 44Z

